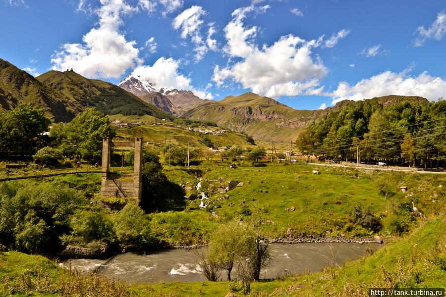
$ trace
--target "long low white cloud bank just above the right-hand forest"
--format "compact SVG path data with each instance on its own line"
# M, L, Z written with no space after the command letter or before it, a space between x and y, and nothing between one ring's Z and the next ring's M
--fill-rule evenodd
M421 96L430 100L445 96L445 80L431 76L426 71L418 76L408 76L408 71L410 69L400 73L385 71L353 86L340 82L334 92L324 95L333 97L333 104L346 99L357 101L386 95Z

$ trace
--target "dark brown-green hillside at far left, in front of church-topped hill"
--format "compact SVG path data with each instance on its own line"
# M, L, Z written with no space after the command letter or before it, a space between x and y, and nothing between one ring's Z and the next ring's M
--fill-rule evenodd
M0 110L10 110L25 102L32 102L44 108L47 115L56 122L70 121L82 107L76 100L0 59Z

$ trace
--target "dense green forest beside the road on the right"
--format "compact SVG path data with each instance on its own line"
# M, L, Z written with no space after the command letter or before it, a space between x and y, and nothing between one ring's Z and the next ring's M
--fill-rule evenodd
M390 96L350 102L312 122L297 145L304 153L347 161L357 161L358 152L364 163L444 167L446 101Z

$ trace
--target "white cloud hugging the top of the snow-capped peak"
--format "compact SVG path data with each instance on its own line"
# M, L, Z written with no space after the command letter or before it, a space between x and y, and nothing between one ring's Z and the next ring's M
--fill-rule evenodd
M213 99L207 89L195 89L191 79L178 72L180 61L173 58L159 58L152 66L141 65L133 70L133 75L142 81L156 84L159 88L190 90L202 99Z

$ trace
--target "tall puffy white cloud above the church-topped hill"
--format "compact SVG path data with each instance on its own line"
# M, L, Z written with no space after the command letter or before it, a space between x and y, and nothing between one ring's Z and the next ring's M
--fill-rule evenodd
M138 10L125 0L101 0L95 10L99 16L97 28L82 38L83 43L63 44L52 56L53 69L73 68L89 78L119 78L126 69L142 61L134 41L127 41L119 27L122 16Z

